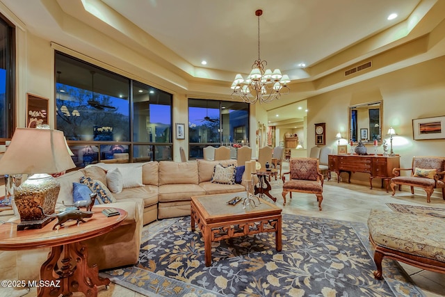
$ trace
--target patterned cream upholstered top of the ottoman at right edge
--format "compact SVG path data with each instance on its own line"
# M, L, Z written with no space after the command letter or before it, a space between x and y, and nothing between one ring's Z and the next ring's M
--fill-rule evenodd
M443 218L371 210L369 234L378 246L445 262Z

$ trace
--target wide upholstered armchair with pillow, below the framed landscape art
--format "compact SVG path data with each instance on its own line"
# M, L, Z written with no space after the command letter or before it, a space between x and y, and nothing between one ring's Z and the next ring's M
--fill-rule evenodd
M410 171L410 176L401 176L401 171ZM445 200L445 157L414 156L411 168L394 168L391 179L392 195L396 186L410 186L414 194L414 186L423 188L426 192L426 202L430 203L431 194L435 188L442 188L442 198Z

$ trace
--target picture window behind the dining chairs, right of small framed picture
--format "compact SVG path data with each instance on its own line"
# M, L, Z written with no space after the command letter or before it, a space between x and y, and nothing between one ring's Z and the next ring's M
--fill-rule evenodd
M249 143L249 104L188 99L189 159L202 158L207 145Z

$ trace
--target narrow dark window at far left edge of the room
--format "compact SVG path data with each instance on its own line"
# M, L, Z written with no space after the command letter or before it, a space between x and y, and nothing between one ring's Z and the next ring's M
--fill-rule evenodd
M15 85L15 29L0 15L0 139L13 136Z

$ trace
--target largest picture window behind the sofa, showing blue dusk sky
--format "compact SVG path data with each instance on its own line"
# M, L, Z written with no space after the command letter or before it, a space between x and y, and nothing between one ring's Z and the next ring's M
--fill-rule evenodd
M56 53L56 127L77 166L171 160L172 95Z

